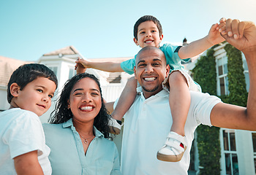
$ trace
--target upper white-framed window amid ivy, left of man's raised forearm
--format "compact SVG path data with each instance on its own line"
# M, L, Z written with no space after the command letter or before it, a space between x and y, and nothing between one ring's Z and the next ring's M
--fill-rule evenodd
M218 95L228 95L227 56L217 60Z

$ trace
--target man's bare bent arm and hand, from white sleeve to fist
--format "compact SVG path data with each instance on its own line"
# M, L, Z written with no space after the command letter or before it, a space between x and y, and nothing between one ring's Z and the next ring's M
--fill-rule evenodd
M221 128L256 131L256 26L252 22L226 21L223 37L244 52L249 69L249 94L246 108L219 103L211 111L211 124Z

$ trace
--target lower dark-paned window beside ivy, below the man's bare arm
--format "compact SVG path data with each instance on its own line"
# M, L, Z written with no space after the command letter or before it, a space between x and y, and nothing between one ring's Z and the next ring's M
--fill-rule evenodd
M225 174L237 175L238 170L238 157L236 152L236 133L235 130L222 129L223 134L223 147L225 157ZM255 135L256 136L256 135Z

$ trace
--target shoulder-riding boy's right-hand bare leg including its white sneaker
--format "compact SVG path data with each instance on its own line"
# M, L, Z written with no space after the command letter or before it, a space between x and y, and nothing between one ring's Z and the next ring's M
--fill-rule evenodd
M184 139L184 126L190 106L190 93L187 79L180 71L173 71L169 75L169 103L173 117L173 125L162 149L157 152L157 158L163 161L177 162L181 160L187 147Z

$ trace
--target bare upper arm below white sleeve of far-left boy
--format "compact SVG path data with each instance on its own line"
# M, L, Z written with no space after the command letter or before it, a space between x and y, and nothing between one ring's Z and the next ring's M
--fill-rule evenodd
M17 174L42 174L42 168L38 162L37 150L19 155L14 159L14 166Z

